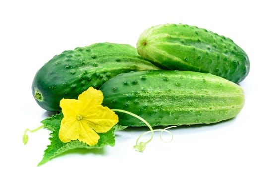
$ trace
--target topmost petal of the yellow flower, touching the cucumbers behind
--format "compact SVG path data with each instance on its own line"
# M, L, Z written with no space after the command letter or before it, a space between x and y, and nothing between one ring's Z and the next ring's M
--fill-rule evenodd
M78 96L78 100L84 101L84 105L87 108L91 108L95 105L100 105L103 102L103 93L101 90L96 90L93 87L89 87Z

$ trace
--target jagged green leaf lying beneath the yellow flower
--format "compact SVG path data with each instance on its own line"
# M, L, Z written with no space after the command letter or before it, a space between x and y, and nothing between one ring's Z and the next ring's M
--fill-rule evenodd
M41 121L45 127L48 129L52 130L53 132L50 133L50 138L49 140L51 141L51 144L47 146L47 149L44 151L43 159L40 161L38 166L48 162L52 158L66 152L72 149L76 148L86 148L86 149L93 149L93 148L103 148L104 146L110 145L114 146L115 145L115 131L116 128L113 127L106 133L99 133L100 139L98 143L94 146L89 146L86 143L83 143L81 141L70 141L68 143L63 143L59 139L59 129L60 129L60 124L61 120L63 118L62 113L52 115L51 118L47 118L43 121Z

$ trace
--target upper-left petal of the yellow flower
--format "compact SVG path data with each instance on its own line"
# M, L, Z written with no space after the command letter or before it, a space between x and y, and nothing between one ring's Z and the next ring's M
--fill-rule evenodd
M75 99L62 99L60 101L60 107L62 108L63 116L77 116L82 108L82 101Z

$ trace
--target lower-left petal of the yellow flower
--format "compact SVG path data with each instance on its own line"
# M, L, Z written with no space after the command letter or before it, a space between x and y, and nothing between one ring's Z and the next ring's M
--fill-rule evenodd
M71 140L77 140L79 137L78 120L73 117L63 118L59 130L59 139L67 143Z

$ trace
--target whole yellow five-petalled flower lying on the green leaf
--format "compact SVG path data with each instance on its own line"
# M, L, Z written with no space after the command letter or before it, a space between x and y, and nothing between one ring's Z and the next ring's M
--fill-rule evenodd
M59 138L67 143L79 140L92 146L98 143L99 135L118 123L118 116L102 106L103 93L89 87L78 99L62 99L60 107L64 118L61 121Z

